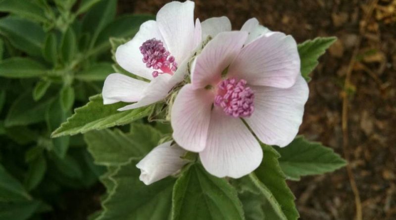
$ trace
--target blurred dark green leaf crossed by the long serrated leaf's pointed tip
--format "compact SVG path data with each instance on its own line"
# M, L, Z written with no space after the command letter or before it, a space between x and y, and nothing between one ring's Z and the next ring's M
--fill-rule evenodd
M58 128L60 124L66 120L68 115L70 115L69 111L65 112L62 110L60 99L53 100L46 112L46 121L49 132ZM51 140L55 154L59 158L64 158L67 149L69 148L70 136L52 138Z

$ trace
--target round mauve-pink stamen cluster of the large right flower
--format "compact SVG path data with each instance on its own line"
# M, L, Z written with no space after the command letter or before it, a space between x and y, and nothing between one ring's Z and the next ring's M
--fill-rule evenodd
M246 80L226 79L217 85L214 105L232 117L249 117L254 111L254 92L246 87Z

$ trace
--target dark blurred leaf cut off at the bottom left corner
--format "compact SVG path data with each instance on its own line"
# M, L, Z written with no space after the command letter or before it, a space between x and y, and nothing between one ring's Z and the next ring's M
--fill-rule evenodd
M17 203L0 202L0 220L27 220L39 209L37 200Z

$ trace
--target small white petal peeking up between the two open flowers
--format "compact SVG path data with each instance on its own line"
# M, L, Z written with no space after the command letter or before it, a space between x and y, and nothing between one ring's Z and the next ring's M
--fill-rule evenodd
M202 40L207 36L216 37L221 32L231 31L231 22L228 17L214 17L202 22Z

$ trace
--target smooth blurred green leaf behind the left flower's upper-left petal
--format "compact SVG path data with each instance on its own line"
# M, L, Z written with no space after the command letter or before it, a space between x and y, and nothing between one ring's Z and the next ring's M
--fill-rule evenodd
M93 50L106 52L110 48L109 38L132 38L145 21L155 20L153 15L124 15L108 24L99 34Z

